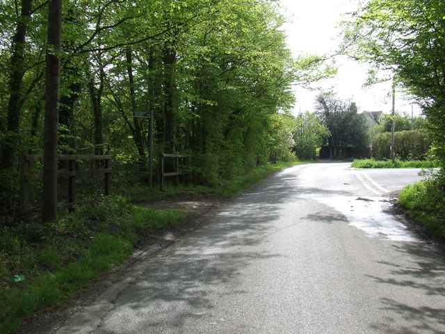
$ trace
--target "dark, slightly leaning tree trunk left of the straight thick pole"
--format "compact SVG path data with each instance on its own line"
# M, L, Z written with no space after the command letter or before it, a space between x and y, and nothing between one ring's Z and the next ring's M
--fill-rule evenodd
M22 10L17 19L17 29L13 37L13 47L9 74L10 97L8 102L8 124L6 130L9 136L1 147L0 168L11 168L15 160L15 148L18 144L20 109L22 109L22 84L24 74L24 49L26 31L31 17L32 0L22 0ZM0 124L0 130L1 129Z

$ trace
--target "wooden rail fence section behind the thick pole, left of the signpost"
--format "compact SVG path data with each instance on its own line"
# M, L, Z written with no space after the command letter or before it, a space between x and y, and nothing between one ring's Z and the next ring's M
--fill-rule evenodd
M96 147L103 147L103 145L96 145ZM84 149L81 149L84 150ZM79 150L80 151L80 150ZM76 170L76 161L79 160L92 160L92 161L104 161L103 168L90 169L90 170ZM26 212L29 210L29 182L31 180L42 180L43 173L31 173L30 164L32 162L43 161L43 154L29 154L29 150L22 150L20 153L20 212ZM58 161L67 161L67 171L58 172L57 177L67 177L68 179L68 203L65 207L72 208L76 204L76 178L83 175L97 175L104 174L104 196L110 195L111 184L111 155L99 154L99 155L83 155L83 154L70 154L70 155L58 155Z

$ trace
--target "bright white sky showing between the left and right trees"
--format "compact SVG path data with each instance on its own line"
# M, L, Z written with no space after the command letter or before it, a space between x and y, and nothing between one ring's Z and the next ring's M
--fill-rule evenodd
M334 54L340 42L338 23L343 13L355 10L357 0L280 0L288 21L284 24L289 49L294 56L301 54ZM336 58L339 73L334 79L314 84L313 88L332 90L342 99L353 99L359 111L383 111L392 109L391 83L363 88L366 66L344 56ZM296 87L297 102L294 113L314 110L314 97L318 91ZM412 105L396 92L396 111L411 115ZM419 107L414 106L414 115Z

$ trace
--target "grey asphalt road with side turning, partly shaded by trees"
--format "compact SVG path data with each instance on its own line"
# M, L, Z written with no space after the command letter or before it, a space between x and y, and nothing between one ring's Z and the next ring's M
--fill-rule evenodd
M444 255L384 201L418 172L277 173L57 333L445 333Z

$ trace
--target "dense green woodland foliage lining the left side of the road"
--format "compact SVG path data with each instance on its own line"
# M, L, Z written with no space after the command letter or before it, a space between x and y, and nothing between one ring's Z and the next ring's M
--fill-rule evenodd
M293 59L277 1L63 1L60 52L48 49L48 2L0 3L0 200L17 202L17 157L43 148L44 57L60 65L58 150L108 143L115 170L147 178L154 113L161 152L193 156L192 180L218 184L267 161L294 159L294 81L316 56ZM96 148L96 153L102 149ZM145 176L144 176L145 175Z

